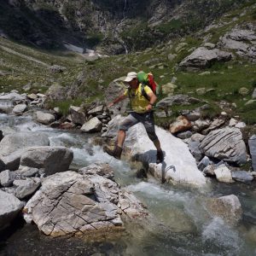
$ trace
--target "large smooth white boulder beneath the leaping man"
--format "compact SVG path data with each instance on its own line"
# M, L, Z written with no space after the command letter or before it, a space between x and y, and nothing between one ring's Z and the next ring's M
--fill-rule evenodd
M102 136L116 136L119 121L123 118L116 116L108 123L108 131ZM125 139L125 148L129 148L129 157L143 162L148 166L148 172L154 177L159 178L162 182L169 183L189 183L195 186L206 184L206 178L197 169L195 159L190 154L188 145L183 143L177 137L173 137L168 131L159 127L156 128L156 134L160 139L161 148L165 154L165 160L156 164L156 149L154 144L149 140L145 128L142 124L137 124L127 131ZM181 159L181 155L183 156Z

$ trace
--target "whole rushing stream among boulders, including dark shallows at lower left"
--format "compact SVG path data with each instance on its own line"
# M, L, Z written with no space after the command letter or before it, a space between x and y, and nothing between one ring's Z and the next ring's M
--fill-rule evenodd
M7 128L8 127L8 128ZM0 130L42 131L50 145L73 149L72 168L95 162L113 166L115 179L127 187L148 207L158 224L128 224L126 236L106 241L77 238L53 239L41 234L35 225L16 222L0 236L0 255L256 255L256 189L252 184L225 184L212 180L208 189L161 184L154 178L137 178L136 169L115 160L99 146L90 144L90 136L57 131L37 125L27 117L0 115ZM237 226L224 223L207 212L210 197L235 194L243 209Z

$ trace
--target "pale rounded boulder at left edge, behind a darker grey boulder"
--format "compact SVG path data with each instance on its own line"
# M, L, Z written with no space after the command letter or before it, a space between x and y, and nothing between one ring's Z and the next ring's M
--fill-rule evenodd
M48 146L49 138L40 132L11 133L0 142L0 171L15 171L20 166L20 156L26 148Z

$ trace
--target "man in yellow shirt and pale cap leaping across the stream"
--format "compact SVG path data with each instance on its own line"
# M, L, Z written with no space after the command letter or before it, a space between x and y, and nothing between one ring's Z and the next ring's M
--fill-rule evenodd
M154 146L157 149L156 163L159 164L164 160L164 154L160 147L160 141L155 134L154 114L152 111L152 107L154 106L154 102L157 100L157 97L148 85L144 86L144 92L147 94L147 98L143 95L143 84L139 83L136 72L128 73L124 82L129 84L129 89L125 90L123 95L109 103L108 108L129 96L132 112L119 124L119 132L115 148L113 150L105 148L105 151L116 159L120 159L123 144L125 142L125 132L131 126L141 122L148 133L149 139L154 143Z

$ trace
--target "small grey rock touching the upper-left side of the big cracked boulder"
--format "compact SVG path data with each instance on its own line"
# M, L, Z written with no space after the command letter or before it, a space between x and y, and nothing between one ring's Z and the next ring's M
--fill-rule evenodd
M30 195L33 195L38 187L40 186L41 182L39 179L29 179L27 183L19 184L15 190L15 196L17 198L25 199Z

